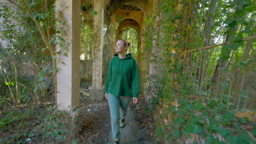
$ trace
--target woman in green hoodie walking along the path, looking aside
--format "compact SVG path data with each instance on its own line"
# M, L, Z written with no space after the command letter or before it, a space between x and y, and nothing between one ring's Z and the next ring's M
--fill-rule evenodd
M125 40L118 40L115 45L114 58L108 65L106 94L108 100L112 134L115 143L120 143L120 128L125 126L127 108L133 100L133 104L138 102L139 94L139 73L138 66L131 57L131 53L126 55L130 43Z

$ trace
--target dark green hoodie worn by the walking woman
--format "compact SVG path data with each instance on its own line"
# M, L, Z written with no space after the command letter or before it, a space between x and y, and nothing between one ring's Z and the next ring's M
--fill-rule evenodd
M108 65L106 93L113 93L115 97L127 96L138 98L139 73L135 59L131 53L124 59L114 55Z

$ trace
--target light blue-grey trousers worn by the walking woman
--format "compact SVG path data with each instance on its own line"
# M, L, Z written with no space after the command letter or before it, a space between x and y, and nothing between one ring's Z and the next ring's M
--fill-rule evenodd
M121 118L126 118L127 108L132 97L115 97L114 94L108 93L108 105L110 109L111 127L113 139L120 138L119 121ZM121 115L120 115L121 114Z

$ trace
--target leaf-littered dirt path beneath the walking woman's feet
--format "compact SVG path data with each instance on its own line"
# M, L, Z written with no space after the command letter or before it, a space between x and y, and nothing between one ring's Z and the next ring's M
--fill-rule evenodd
M86 108L80 131L80 139L83 143L113 143L107 100L82 100L81 104ZM120 129L121 143L153 143L152 118L147 115L146 110L146 102L142 97L139 98L139 104L130 104L126 126Z

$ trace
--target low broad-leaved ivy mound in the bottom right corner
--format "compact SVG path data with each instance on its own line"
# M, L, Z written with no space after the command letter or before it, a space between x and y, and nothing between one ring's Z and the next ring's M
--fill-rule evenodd
M163 140L176 143L177 140L189 140L191 134L197 134L200 139L205 139L208 143L213 141L233 143L234 139L236 142L253 143L246 130L240 128L248 121L245 118L236 118L235 111L226 110L226 105L220 104L220 100L213 98L206 100L202 96L190 95L188 92L195 92L196 89L187 84L178 91L176 89L176 93L170 93L173 91L171 86L165 87L162 92L165 94L161 95L160 104L170 104L174 98L178 100L179 106L169 105L170 107L162 110L161 114L158 113L159 124L155 124L158 126L154 134L156 142ZM181 93L182 95L179 95ZM158 107L162 106L158 105ZM235 109L235 107L231 108ZM162 125L162 119L168 119L170 124ZM250 133L253 133L253 130ZM222 139L218 139L216 135Z

